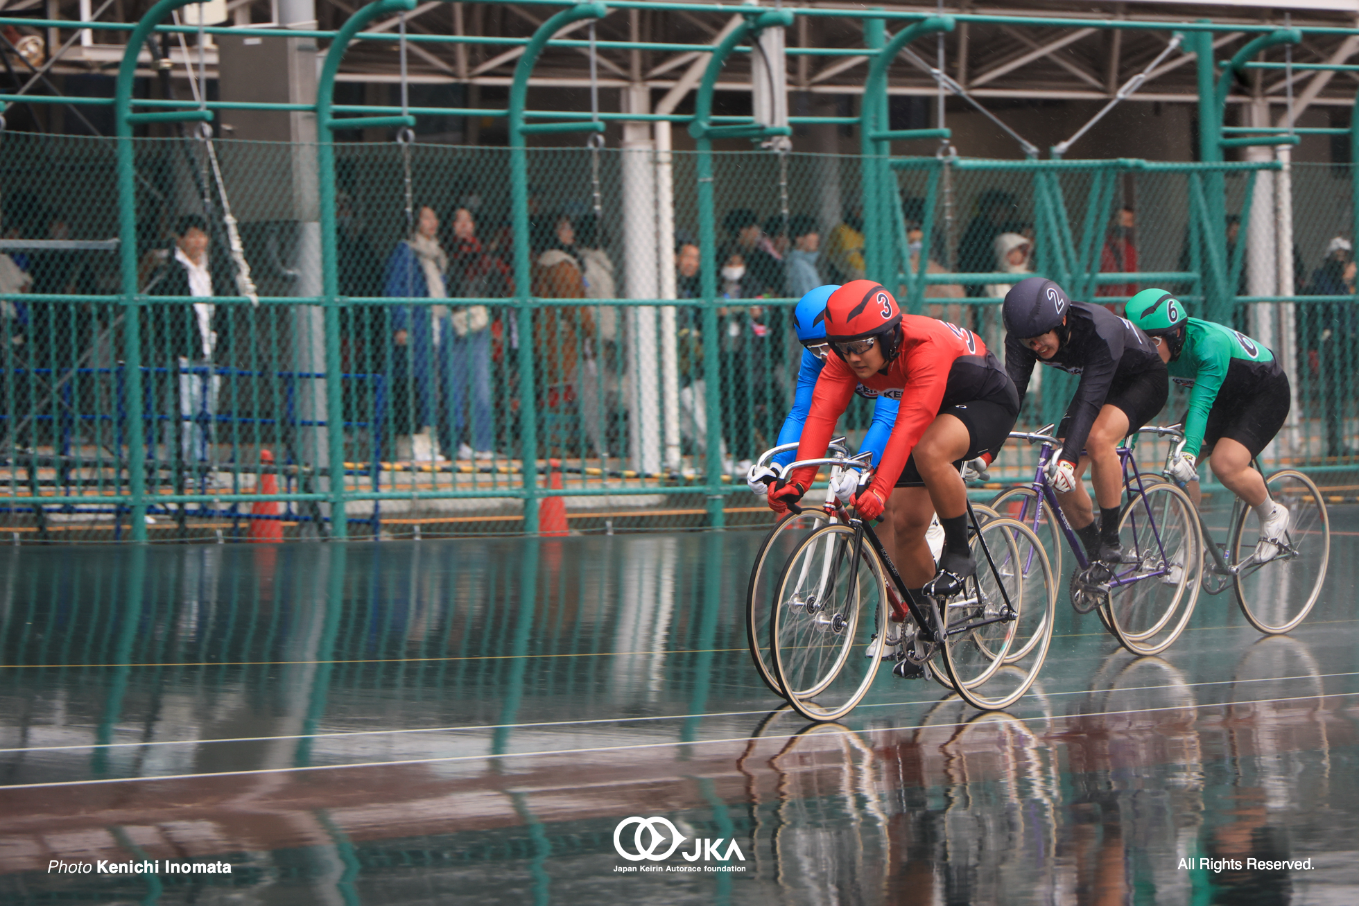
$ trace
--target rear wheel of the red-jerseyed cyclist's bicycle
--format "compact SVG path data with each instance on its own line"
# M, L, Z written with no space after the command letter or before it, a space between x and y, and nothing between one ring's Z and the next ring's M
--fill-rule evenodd
M1015 519L988 520L972 550L976 575L942 609L943 662L969 705L999 710L1029 690L1048 656L1057 581L1038 535Z

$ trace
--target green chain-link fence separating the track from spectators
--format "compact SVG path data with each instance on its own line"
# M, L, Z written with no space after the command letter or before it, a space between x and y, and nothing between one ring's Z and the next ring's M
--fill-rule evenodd
M337 503L356 537L518 531L526 497L544 531L700 527L715 496L727 524L764 523L741 475L791 405L790 306L866 274L998 350L999 300L1027 273L1114 308L1166 287L1290 368L1294 417L1269 462L1356 462L1347 167L1292 167L1294 292L1279 296L1272 247L1248 239L1273 217L1273 173L872 160L896 197L864 224L862 158L715 153L713 344L693 153L530 151L520 251L508 149L337 145L323 264L315 147L136 140L129 299L109 242L114 143L3 141L0 531L16 541L122 539L139 503L152 539L326 537ZM1040 371L1029 427L1074 388ZM1173 391L1163 418L1184 407ZM870 418L856 399L841 431L859 440ZM1026 469L1027 451L1000 458L1003 477Z

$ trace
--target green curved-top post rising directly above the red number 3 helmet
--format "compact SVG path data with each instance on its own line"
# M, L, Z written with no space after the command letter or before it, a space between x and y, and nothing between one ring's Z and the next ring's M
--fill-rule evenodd
M901 193L887 166L892 140L882 137L892 126L887 117L887 67L908 43L927 34L953 31L950 16L930 16L906 26L887 41L886 19L863 20L863 43L878 53L870 58L868 77L863 83L863 102L859 109L859 147L863 160L859 185L863 193L864 272L870 280L885 287L896 281L892 236L894 212L889 205L901 206ZM921 258L925 255L921 254ZM909 258L906 259L909 261Z

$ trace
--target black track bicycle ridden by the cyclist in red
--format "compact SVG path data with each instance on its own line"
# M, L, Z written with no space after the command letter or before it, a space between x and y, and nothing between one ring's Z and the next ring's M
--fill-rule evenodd
M868 469L806 459L783 474L828 465ZM1023 695L1052 640L1056 579L1027 526L977 509L969 503L976 575L958 594L927 596L924 604L906 594L872 526L856 516L817 528L794 549L769 617L769 653L775 681L798 713L817 721L849 713L883 659L898 668L923 664L940 682L947 675L978 709L1008 708Z

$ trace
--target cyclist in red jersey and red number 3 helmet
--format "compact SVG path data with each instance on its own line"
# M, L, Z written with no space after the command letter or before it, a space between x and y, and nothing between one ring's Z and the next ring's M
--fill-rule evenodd
M976 572L968 547L965 459L995 456L1019 414L1019 394L1000 361L965 327L902 315L897 300L871 280L847 283L826 302L826 340L836 353L817 380L798 459L825 455L836 420L863 384L901 401L897 421L872 481L855 508L882 515L893 488L896 564L913 595L955 594ZM769 505L786 509L811 486L815 469L799 469L769 489ZM938 512L945 546L938 568L925 530Z

